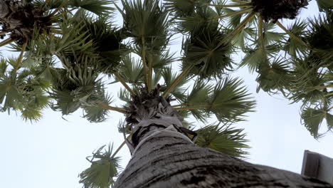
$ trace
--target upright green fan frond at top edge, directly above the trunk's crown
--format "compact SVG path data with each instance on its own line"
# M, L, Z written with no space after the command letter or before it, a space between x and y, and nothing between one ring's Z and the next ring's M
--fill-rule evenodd
M159 1L124 1L123 10L117 9L124 19L127 35L134 38L137 46L145 46L147 51L161 51L169 41L168 14Z

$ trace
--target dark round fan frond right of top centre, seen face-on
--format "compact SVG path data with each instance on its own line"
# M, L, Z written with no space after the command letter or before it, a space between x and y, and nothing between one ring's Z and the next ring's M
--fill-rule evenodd
M201 78L221 77L226 70L230 71L230 55L233 50L231 43L218 46L226 37L226 33L220 31L201 30L192 33L183 46L182 68L193 66L189 74L199 75Z

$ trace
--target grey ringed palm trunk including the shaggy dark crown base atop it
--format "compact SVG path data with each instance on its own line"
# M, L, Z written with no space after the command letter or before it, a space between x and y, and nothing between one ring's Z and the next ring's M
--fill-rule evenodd
M300 174L250 164L194 145L196 134L181 125L170 98L142 89L127 108L133 130L132 159L114 188L164 187L332 187ZM189 138L191 137L191 139Z

